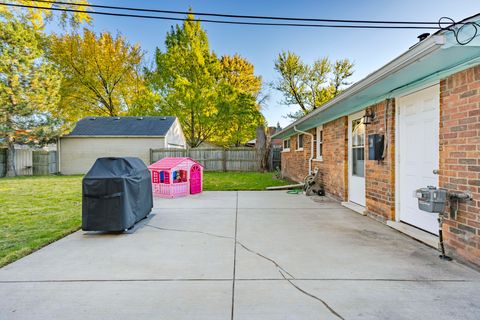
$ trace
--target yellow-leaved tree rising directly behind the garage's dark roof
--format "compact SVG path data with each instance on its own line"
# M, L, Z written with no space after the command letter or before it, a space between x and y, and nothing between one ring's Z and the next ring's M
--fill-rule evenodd
M138 45L108 32L53 36L50 59L63 75L60 102L51 112L73 123L85 116L119 116L148 96Z

